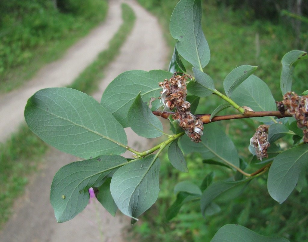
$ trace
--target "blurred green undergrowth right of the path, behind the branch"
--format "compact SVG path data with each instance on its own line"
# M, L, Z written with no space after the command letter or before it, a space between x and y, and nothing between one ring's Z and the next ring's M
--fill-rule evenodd
M159 18L170 51L173 51L175 40L169 33L169 21L178 1L138 2ZM307 51L308 42L308 23L282 13L286 10L295 16L307 17L308 5L302 1L298 9L297 4L301 1L295 0L201 2L202 28L211 50L211 60L204 71L213 78L215 88L223 91L222 82L228 73L238 66L249 64L258 66L254 74L270 87L275 100L281 100L281 59L290 50ZM184 64L189 67L187 62ZM307 84L307 62L304 61L295 68L292 89L302 93L308 89ZM196 113L211 113L221 103L224 103L223 100L216 96L201 98L201 105ZM232 109L226 109L219 115L232 113ZM250 119L219 122L235 143L238 153L248 163L252 159L248 151L249 139L259 124ZM208 127L205 126L206 128ZM293 144L291 136L280 139L278 143L281 146ZM265 236L308 241L307 184L304 184L301 192L294 191L283 204L278 204L267 192L267 174L253 179L237 198L218 203L221 211L215 215L203 218L200 202L190 202L181 208L178 216L167 222L165 214L176 199L173 187L178 182L192 181L200 186L202 179L212 171L215 174L214 181L228 179L234 175L234 172L225 167L203 163L198 154L185 158L189 173L174 169L168 162L167 154L162 158L159 199L140 217L140 223L136 223L132 228L132 238L137 237L139 241L210 241L223 225L235 223ZM256 171L257 167L250 164L251 171Z

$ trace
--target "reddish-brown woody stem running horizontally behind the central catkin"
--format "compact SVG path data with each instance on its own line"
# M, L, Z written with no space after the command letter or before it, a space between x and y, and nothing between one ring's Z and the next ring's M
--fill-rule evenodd
M160 116L164 119L168 119L168 117L174 112L168 111L153 111L152 112L156 116ZM210 114L196 114L196 117L200 118L204 124L206 123L213 123L216 121L222 120L230 120L230 119L246 119L246 118L253 118L253 117L277 117L278 119L285 118L285 117L292 117L292 115L288 113L281 114L279 111L248 111L245 110L244 114L232 114L232 115L222 115L222 116L215 116L213 119L210 119Z

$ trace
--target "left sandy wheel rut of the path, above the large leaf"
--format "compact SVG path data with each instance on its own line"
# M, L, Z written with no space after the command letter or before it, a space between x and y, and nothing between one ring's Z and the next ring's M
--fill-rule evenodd
M108 47L108 42L119 29L122 18L120 2L109 1L106 21L72 46L64 57L42 68L37 75L18 90L0 96L0 142L24 121L24 108L28 98L46 87L64 87L72 83L92 63L97 54Z

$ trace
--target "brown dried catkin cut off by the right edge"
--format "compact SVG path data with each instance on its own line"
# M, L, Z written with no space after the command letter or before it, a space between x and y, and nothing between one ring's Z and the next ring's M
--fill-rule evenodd
M303 139L308 143L308 95L298 96L295 92L287 92L283 96L282 104L297 120L297 126L303 128Z

